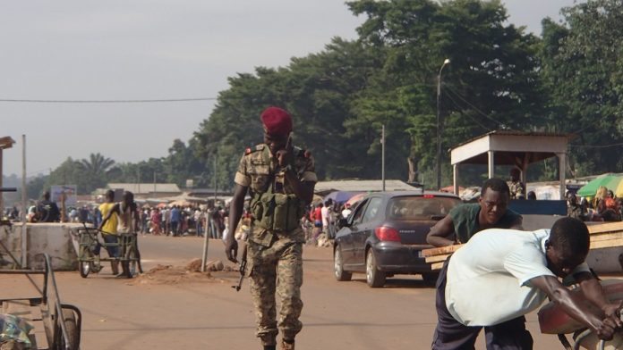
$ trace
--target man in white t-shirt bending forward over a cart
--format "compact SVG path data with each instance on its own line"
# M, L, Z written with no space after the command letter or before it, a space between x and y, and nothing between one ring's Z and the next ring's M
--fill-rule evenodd
M486 229L474 235L440 272L432 349L474 349L483 327L487 349L532 349L523 324L508 321L532 312L548 296L598 337L611 338L623 325L621 305L607 301L584 262L589 246L584 222L568 217L551 230ZM581 295L559 282L567 276L580 285Z

